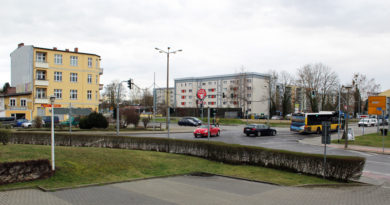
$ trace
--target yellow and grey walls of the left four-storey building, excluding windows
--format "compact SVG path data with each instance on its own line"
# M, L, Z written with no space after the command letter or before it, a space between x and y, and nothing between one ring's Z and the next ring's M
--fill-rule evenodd
M63 51L57 49L38 48L33 46L21 46L11 54L11 75L19 76L21 79L30 78L31 86L31 113L32 118L37 115L50 115L50 108L45 104L50 104L49 97L54 95L54 90L62 91L62 97L55 100L55 104L67 108L70 105L74 108L90 108L98 111L100 98L100 56L89 53L80 53L78 49L74 51ZM37 61L37 53L45 53L44 62ZM55 63L55 54L62 55L62 63ZM71 65L71 56L77 57L77 66ZM92 66L88 66L88 58L92 59ZM23 70L24 69L24 70ZM23 71L23 72L22 72ZM45 78L38 79L37 72L44 72ZM56 81L55 72L62 73L62 80ZM77 74L77 82L71 82L71 73ZM26 76L27 77L26 77ZM31 76L30 76L31 75ZM88 82L88 75L91 75L91 82ZM15 84L26 81L13 81ZM44 89L45 96L38 98L37 89ZM77 99L70 99L70 91L77 90ZM91 91L91 99L87 98L88 91ZM18 93L18 89L17 89ZM13 110L12 112L15 112ZM9 116L11 111L6 112ZM66 119L66 117L65 117Z

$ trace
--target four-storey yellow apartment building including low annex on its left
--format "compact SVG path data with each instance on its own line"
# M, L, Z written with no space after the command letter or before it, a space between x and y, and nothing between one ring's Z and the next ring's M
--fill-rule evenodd
M98 111L100 90L100 56L82 53L78 48L59 50L23 43L11 53L11 86L15 92L4 95L7 117L33 119L51 115L50 96L55 96L55 115L67 119L73 114ZM75 112L76 111L76 112Z

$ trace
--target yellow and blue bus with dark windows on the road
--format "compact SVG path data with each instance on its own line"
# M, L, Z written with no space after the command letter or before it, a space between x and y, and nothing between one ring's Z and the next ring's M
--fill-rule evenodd
M291 116L290 131L299 133L321 133L322 122L330 122L331 131L340 128L338 112L321 111L318 113L294 113Z

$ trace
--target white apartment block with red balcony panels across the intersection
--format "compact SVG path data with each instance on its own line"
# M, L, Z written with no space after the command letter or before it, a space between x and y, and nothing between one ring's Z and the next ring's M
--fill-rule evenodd
M175 107L200 107L196 93L205 89L204 107L242 108L248 114L268 114L268 74L238 73L175 79Z

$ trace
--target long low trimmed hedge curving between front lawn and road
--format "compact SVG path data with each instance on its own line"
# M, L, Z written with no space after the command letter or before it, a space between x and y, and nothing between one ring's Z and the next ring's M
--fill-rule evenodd
M199 140L151 137L117 137L87 134L56 134L56 145L105 147L169 152L229 163L270 167L292 172L323 176L323 155L267 149ZM50 145L49 133L12 133L10 143ZM361 176L365 158L327 156L326 178L347 181Z

